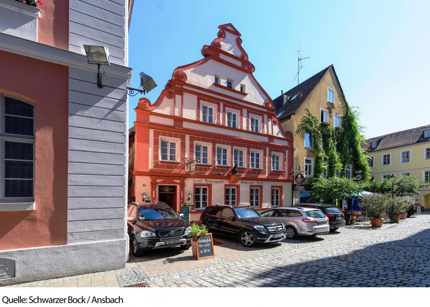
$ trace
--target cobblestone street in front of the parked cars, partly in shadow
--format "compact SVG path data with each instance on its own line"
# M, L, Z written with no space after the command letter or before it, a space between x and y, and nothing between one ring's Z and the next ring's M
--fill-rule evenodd
M125 269L15 285L103 287L430 287L430 214L381 229L346 226L313 238L245 249L215 237L216 257L159 250L132 258Z

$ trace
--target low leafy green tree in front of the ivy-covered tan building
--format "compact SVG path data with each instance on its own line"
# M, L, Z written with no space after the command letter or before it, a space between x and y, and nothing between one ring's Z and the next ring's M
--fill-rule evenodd
M363 192L362 184L347 178L314 178L311 184L311 198L317 202L329 202L333 205L337 205L338 199L348 198Z

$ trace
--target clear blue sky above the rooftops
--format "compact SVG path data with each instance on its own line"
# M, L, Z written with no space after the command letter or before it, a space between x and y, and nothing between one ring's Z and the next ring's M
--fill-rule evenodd
M132 87L139 72L158 87L173 70L202 58L218 25L233 23L273 98L334 64L346 99L359 107L366 137L430 124L430 1L135 0L129 33ZM130 99L130 126L140 95Z

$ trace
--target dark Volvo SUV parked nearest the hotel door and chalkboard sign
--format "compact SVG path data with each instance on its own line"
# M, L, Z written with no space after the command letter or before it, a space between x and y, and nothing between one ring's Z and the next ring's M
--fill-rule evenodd
M131 203L127 209L127 232L133 256L161 248L191 247L191 227L164 203Z

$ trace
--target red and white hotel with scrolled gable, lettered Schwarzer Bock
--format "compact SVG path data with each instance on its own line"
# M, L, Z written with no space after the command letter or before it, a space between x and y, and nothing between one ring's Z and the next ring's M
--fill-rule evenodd
M129 201L164 202L178 212L193 203L194 220L208 205L291 205L292 135L254 78L238 30L218 28L203 59L176 68L156 102L139 100Z

